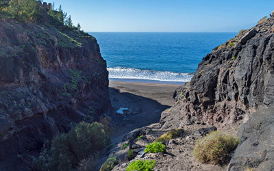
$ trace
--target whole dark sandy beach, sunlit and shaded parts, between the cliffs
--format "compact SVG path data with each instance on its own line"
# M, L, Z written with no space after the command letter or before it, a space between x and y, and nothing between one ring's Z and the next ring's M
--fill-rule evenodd
M179 85L110 81L110 101L113 107L110 115L110 138L113 148L116 148L126 133L158 123L162 111L173 105L173 92L177 87ZM128 108L128 112L116 113L120 107ZM103 150L98 157L97 170L106 159L108 152Z

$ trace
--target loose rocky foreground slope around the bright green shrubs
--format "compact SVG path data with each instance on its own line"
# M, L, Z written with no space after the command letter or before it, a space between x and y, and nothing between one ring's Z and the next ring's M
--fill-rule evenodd
M124 157L125 160L119 161L120 163L113 168L113 171L125 171L129 163L141 160L155 160L155 166L153 170L212 170L219 171L222 170L221 166L213 166L211 164L203 164L197 161L192 155L192 150L195 146L197 140L206 134L216 131L216 127L206 127L199 125L198 127L188 127L188 130L180 130L177 137L172 138L168 142L164 143L166 145L166 152L164 153L145 153L145 146L153 142L156 138L160 137L163 133L169 130L161 129L160 124L151 124L148 127L142 127L142 130L136 129L131 133L128 133L123 138L120 146L118 146L116 153L110 153L110 156L114 155L117 159L123 154L124 151L129 151L129 148L133 150L133 158L128 159L127 156ZM140 137L140 135L142 135ZM140 138L138 138L140 137ZM121 148L122 144L129 143L127 150ZM114 149L116 150L116 149ZM130 160L130 161L127 161Z

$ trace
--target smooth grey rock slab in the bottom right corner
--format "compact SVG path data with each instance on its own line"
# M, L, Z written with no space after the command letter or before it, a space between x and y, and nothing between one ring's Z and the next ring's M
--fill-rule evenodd
M240 145L227 170L274 170L274 107L252 114L238 134Z

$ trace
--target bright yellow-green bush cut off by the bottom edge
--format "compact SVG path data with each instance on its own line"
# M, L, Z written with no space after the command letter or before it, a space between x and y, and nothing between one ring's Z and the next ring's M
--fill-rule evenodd
M126 171L138 170L138 171L153 171L153 167L155 165L155 160L140 160L132 161L127 166Z

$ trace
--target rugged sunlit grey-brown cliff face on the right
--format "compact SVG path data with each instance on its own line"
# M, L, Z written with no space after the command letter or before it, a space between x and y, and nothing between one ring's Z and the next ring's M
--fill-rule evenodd
M203 58L191 81L176 90L177 103L162 114L163 127L195 122L232 126L258 107L273 105L273 61L272 16Z

